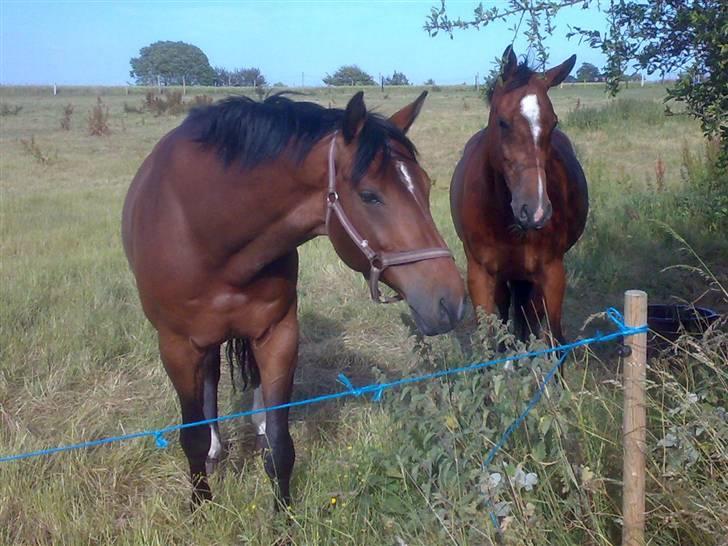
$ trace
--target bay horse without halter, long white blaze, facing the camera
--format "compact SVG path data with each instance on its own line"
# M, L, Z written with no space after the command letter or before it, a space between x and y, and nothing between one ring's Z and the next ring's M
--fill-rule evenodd
M491 90L488 125L465 146L450 186L473 305L506 321L513 303L521 339L537 334L546 316L556 340L565 341L564 254L584 231L589 204L584 172L556 128L548 90L575 61L540 74L519 65L509 46Z

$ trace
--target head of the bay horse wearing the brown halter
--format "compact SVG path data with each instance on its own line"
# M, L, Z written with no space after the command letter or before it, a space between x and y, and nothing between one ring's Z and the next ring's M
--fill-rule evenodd
M389 119L368 113L361 92L349 101L330 148L328 233L344 262L370 279L373 297L381 278L407 301L419 329L435 335L462 317L464 286L406 136L426 95Z

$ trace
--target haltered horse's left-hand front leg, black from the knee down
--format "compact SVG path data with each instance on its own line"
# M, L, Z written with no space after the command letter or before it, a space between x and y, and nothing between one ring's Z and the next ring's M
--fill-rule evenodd
M219 347L215 349L219 354ZM193 423L205 418L204 361L210 351L193 346L188 338L172 334L159 335L159 351L167 375L172 380L182 409L182 422ZM212 498L207 482L205 461L210 450L210 427L201 425L183 428L180 444L190 464L192 480L192 505Z

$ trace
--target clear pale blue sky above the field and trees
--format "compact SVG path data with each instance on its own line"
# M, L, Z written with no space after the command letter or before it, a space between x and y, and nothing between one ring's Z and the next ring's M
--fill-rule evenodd
M467 17L477 0L447 3ZM505 7L503 0L483 1ZM513 37L510 25L460 31L450 40L422 29L439 0L406 2L169 2L0 0L0 83L101 84L129 81L129 59L157 40L200 47L213 66L257 66L273 82L321 85L342 64L358 64L375 78L404 72L413 83L472 82L491 67ZM604 59L576 39L567 25L603 28L596 10L570 8L548 40L551 63L572 53L577 67ZM528 44L519 37L516 52Z

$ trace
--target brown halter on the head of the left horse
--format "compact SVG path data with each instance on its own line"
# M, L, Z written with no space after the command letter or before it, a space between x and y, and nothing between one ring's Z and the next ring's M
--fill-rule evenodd
M362 251L367 260L369 260L369 293L372 299L377 303L393 303L402 299L399 294L392 297L384 297L379 291L379 277L382 272L393 265L402 265L413 262L421 262L422 260L431 260L433 258L452 258L452 253L447 248L433 247L423 248L421 250L405 250L402 252L376 252L369 246L369 241L364 239L346 216L341 203L339 202L339 194L336 193L336 166L334 163L334 155L336 150L335 131L331 138L329 146L329 189L326 194L326 232L329 232L329 222L331 212L333 211L339 219L341 226L354 244Z

